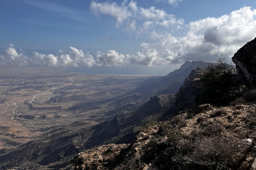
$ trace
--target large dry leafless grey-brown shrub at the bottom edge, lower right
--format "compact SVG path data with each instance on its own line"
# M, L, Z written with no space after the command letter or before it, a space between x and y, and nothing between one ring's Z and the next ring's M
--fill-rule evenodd
M179 148L185 155L173 159L182 169L237 169L246 145L232 137L212 136L181 141Z

